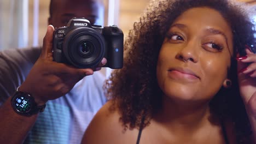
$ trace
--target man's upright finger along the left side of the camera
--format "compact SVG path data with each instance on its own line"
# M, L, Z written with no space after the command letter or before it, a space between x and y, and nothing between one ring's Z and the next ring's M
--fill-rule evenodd
M49 25L47 27L47 31L43 40L43 49L41 52L41 57L43 58L53 56L52 54L53 53L53 32L54 32L54 27L52 25Z

